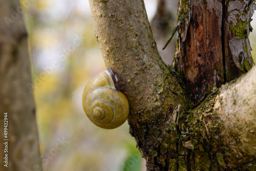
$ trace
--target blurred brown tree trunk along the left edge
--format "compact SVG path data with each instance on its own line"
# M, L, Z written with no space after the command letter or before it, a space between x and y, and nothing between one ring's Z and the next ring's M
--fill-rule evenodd
M22 6L19 0L0 0L0 4L0 170L42 170ZM4 135L4 113L8 113L8 135ZM9 139L6 153L4 139ZM8 167L3 162L6 154Z

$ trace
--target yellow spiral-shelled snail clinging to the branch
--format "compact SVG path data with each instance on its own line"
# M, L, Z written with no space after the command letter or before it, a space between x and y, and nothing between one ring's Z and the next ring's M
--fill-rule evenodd
M84 88L83 110L88 118L103 129L115 129L129 115L129 103L117 86L111 69L97 74Z

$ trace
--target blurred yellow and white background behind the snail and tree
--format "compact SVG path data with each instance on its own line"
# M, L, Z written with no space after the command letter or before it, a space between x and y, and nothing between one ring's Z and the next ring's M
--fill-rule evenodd
M33 93L45 170L146 170L127 121L115 130L103 130L83 112L84 86L106 69L95 38L89 2L21 2L30 35ZM156 14L157 0L145 0L154 35L163 39L157 44L167 64L172 63L169 52L174 56L175 38L168 50L161 49L175 25L177 4L177 0L169 1L168 17L164 20ZM166 20L171 22L166 26L169 30L160 36L155 30ZM254 20L252 27L256 28ZM250 42L252 49L256 49L253 40L256 40L254 32L250 34ZM255 51L252 55L256 61Z

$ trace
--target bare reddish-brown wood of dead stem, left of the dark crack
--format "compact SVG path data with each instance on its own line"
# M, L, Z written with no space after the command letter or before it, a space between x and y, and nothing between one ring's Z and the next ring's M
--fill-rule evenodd
M216 0L192 1L189 10L191 16L185 38L179 30L181 41L176 68L184 74L189 99L196 104L212 87L224 83L222 3Z

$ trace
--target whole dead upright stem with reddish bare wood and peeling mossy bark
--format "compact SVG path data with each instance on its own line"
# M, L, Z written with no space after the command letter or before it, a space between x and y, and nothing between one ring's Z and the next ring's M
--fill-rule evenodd
M176 68L194 104L253 66L248 35L254 8L254 1L180 0Z

